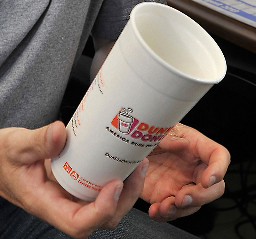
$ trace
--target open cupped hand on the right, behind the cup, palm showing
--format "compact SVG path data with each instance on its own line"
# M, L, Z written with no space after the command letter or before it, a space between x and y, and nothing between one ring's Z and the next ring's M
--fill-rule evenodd
M141 198L155 220L190 215L224 193L228 150L193 128L178 123L147 158Z

